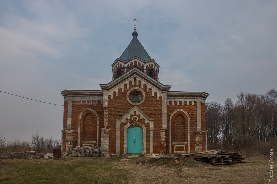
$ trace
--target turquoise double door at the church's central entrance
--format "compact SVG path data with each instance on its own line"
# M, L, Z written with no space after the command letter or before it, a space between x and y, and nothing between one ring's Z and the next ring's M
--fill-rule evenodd
M128 127L127 154L142 154L142 127Z

